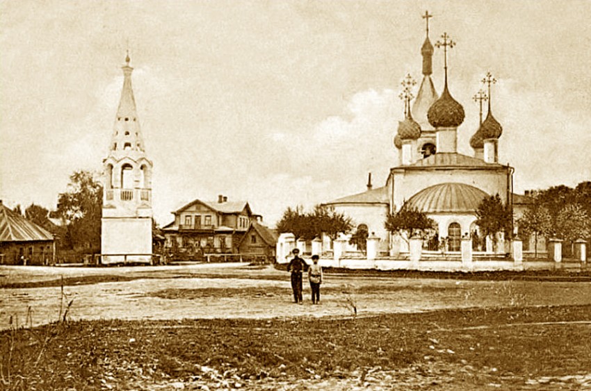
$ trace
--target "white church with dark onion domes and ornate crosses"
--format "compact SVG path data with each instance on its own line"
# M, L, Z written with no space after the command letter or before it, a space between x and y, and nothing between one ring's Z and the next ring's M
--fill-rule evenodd
M416 208L437 224L437 237L446 238L448 251L460 251L462 236L477 231L476 210L488 196L499 194L503 203L512 206L514 169L499 163L499 138L503 128L492 114L491 74L483 80L488 86L488 113L470 140L473 155L458 152L458 127L464 122L464 108L451 93L448 80L447 51L455 43L444 33L435 47L444 51L444 88L439 95L431 79L433 44L429 39L428 13L426 38L421 47L423 80L412 100L410 75L403 80L405 101L403 120L393 135L398 150L398 164L389 171L384 186L373 188L370 181L365 192L324 203L364 224L369 233L380 238L379 251L390 255L408 251L407 240L400 240L384 228L389 213L400 208ZM476 98L475 98L476 99ZM481 110L482 113L482 110ZM365 227L364 227L365 228ZM405 238L407 239L407 238Z

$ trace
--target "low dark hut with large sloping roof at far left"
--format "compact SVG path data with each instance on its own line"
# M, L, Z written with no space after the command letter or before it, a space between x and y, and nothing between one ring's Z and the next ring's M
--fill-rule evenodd
M49 265L55 256L54 235L0 200L0 264Z

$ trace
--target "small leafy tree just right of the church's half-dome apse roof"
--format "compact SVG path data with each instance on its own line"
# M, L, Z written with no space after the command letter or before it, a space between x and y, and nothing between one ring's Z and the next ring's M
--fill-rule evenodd
M485 236L490 236L496 243L496 233L511 232L512 211L503 205L499 194L486 197L476 210L476 224Z

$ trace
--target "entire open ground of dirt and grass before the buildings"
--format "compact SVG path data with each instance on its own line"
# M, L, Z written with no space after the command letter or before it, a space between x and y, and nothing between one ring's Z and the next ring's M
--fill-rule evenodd
M0 389L591 389L580 278L329 273L298 306L270 267L47 269L0 267Z

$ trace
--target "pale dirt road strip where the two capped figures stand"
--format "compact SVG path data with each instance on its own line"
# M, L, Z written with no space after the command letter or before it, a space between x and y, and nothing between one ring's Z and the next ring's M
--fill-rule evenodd
M10 319L33 326L71 319L184 319L358 316L437 308L553 306L591 303L582 282L460 281L429 278L325 276L322 305L291 303L289 275L273 267L200 264L157 267L0 266L0 283L63 276L122 276L131 281L51 288L1 288L0 329ZM239 288L239 289L236 289Z

